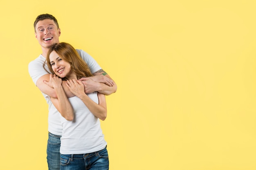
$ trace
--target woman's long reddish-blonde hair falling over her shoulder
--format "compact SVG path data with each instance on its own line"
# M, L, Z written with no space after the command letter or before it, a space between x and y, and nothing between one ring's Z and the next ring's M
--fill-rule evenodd
M90 77L93 76L90 72L88 65L83 61L83 59L79 56L78 52L68 43L61 42L59 44L54 44L50 47L47 54L47 65L52 74L55 74L52 70L51 61L49 59L49 55L51 52L55 51L61 59L70 63L71 72L75 73L77 79L82 77ZM64 78L65 79L65 78Z

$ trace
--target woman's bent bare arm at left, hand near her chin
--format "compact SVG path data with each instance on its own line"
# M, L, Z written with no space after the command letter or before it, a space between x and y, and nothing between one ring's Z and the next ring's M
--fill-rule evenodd
M61 116L66 120L73 120L74 119L74 112L72 105L70 104L65 91L61 85L62 81L61 78L56 77L56 75L50 75L49 83L54 88L57 98L52 98L52 103L56 107L56 109L61 113Z

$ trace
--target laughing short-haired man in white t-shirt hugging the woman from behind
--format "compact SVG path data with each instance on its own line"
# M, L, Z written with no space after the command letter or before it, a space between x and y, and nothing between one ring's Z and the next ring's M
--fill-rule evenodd
M48 116L48 131L49 139L47 143L47 163L49 170L60 169L60 137L62 133L62 126L59 120L59 113L52 104L50 97L57 98L55 90L48 86L49 82L49 70L44 65L47 57L49 47L55 43L59 43L59 36L61 35L61 29L58 26L56 18L49 14L38 15L34 22L34 29L36 39L38 40L42 54L39 55L34 61L29 63L29 74L40 89L45 97L47 104L49 105L49 116ZM115 93L117 85L110 78L110 76L103 71L98 63L83 50L77 50L82 59L88 64L90 71L93 73L93 77L81 78L85 87L85 93L100 92L105 95ZM44 66L43 66L44 65ZM62 83L63 89L67 97L74 96L65 83Z

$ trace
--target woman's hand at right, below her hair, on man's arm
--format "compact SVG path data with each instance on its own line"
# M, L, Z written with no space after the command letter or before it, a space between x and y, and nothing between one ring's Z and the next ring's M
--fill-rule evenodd
M72 92L77 97L85 94L83 83L79 80L67 80L66 85L69 88L70 92Z

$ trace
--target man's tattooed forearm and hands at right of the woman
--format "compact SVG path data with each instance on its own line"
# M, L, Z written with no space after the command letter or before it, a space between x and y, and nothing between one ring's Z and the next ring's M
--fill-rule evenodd
M117 84L104 70L98 70L93 75L92 77L80 79L85 87L85 93L97 91L105 95L110 95L117 91Z

